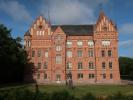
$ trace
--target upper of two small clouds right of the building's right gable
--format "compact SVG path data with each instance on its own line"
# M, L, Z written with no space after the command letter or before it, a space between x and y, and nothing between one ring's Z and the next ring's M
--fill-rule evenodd
M133 34L133 23L123 24L119 30L122 34Z

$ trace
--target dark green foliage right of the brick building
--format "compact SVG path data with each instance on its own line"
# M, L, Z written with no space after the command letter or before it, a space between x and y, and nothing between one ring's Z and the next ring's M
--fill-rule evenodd
M120 57L119 65L121 78L133 80L133 58Z

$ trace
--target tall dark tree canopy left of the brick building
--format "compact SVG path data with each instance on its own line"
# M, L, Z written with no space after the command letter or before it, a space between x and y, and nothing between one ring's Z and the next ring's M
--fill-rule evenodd
M0 25L0 83L23 80L26 53L21 38L12 38L11 30Z

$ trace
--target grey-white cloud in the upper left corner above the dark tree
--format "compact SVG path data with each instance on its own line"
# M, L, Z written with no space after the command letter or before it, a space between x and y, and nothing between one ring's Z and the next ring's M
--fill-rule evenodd
M0 11L3 11L4 13L8 14L15 21L22 22L24 20L27 21L32 19L26 7L15 0L13 1L2 0L0 2Z

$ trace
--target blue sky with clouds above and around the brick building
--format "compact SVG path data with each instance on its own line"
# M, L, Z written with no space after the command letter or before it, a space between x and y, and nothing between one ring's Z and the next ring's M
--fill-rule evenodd
M0 0L0 24L23 38L39 15L51 24L95 24L102 9L118 27L119 56L133 57L132 5L133 0Z

